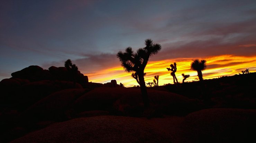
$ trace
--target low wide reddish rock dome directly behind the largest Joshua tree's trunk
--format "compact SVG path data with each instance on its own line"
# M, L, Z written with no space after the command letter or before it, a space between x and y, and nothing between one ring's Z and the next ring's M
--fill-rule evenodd
M154 108L165 114L184 115L200 110L200 101L165 91L148 90L149 99ZM77 112L104 110L121 115L141 116L143 102L140 89L135 88L94 88L74 102Z

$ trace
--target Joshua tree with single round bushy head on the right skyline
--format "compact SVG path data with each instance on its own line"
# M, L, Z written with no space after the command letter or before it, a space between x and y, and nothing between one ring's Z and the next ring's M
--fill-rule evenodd
M192 70L197 72L199 81L203 81L202 70L205 70L205 68L206 68L206 60L202 59L199 61L199 59L194 59L190 65L190 67Z

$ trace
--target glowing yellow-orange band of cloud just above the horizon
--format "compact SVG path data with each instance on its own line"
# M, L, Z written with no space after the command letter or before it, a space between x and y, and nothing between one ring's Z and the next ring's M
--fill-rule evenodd
M168 59L163 61L148 62L145 73L145 82L153 82L154 76L159 75L159 85L173 84L173 78L170 75L170 71L166 68L170 67L170 64L177 63L176 77L181 83L183 77L182 73L189 74L190 77L186 81L192 81L197 77L197 72L190 69L190 63L192 59L196 58L177 58ZM200 58L199 58L200 59ZM249 72L256 72L256 56L242 57L232 55L221 55L215 57L203 58L207 61L207 68L204 70L203 78L211 79L218 78L220 76L231 76L241 73L241 70L249 68ZM125 87L132 87L138 85L136 80L131 77L131 73L126 73L121 66L111 67L108 69L100 70L97 73L86 74L89 81L95 83L107 83L112 79L116 79L117 83L123 83Z

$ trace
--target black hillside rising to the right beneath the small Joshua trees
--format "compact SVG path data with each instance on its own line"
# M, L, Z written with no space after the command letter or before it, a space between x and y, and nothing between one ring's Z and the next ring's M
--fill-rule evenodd
M249 73L161 87L191 99L201 99L211 107L256 109L255 80L256 73Z

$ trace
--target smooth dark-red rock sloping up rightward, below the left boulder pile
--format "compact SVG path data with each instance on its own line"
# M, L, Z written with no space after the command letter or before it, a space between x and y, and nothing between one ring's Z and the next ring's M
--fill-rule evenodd
M71 115L66 114L66 111L71 108L71 105L77 98L88 91L88 89L65 89L54 92L29 107L21 114L21 118L30 119L32 121L70 118Z

